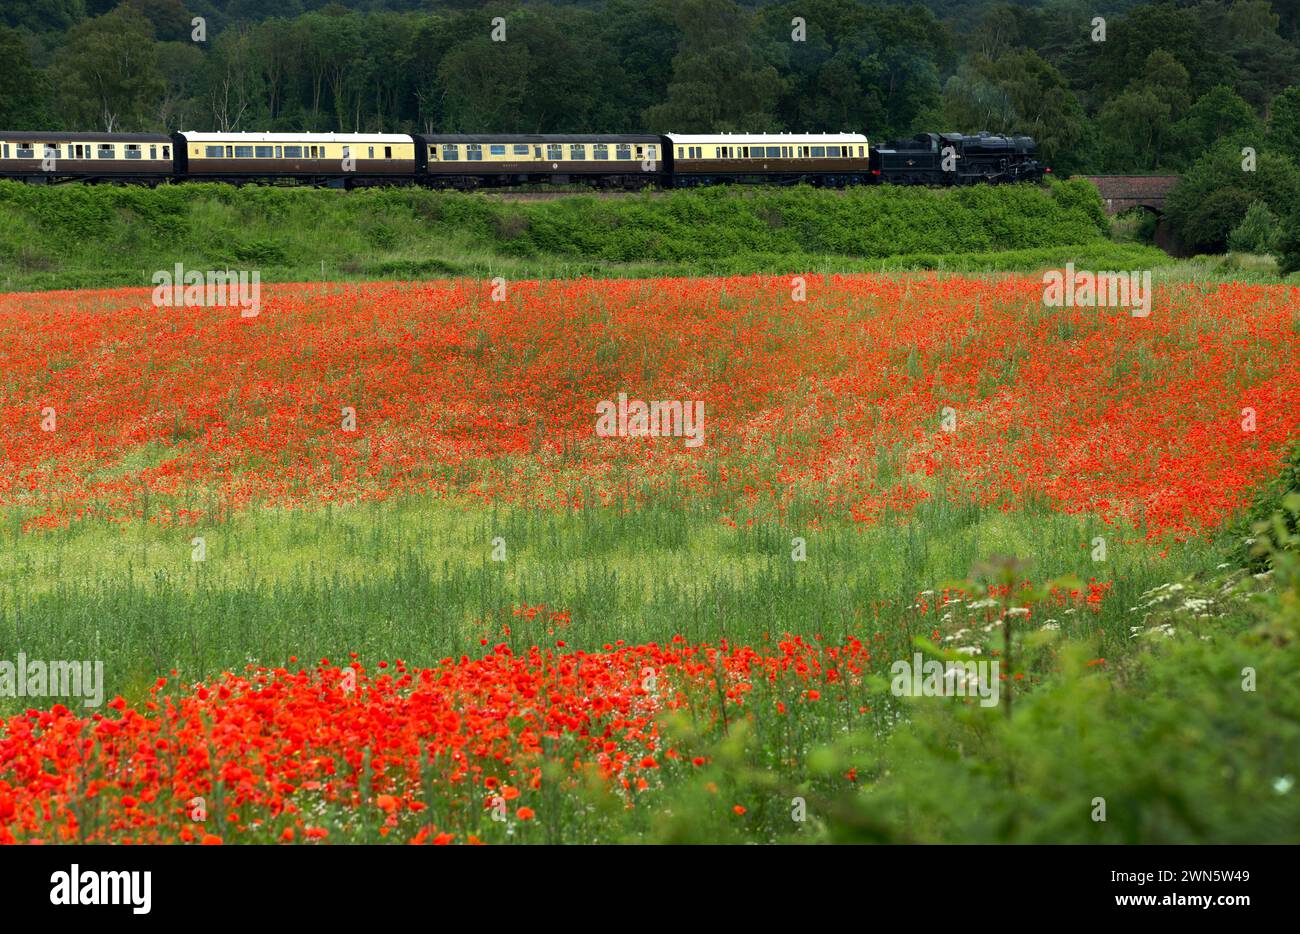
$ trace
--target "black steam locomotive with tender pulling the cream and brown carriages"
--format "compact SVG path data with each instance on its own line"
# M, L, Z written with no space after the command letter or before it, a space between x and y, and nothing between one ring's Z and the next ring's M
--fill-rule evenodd
M871 150L871 174L887 185L1040 182L1044 168L1031 137L918 133Z

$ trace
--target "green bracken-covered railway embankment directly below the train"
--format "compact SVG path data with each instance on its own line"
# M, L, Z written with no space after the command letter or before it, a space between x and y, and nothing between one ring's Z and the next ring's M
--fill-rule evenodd
M547 202L415 187L0 182L0 284L146 285L152 271L178 261L195 269L252 265L263 281L320 278L322 267L356 278L497 274L503 264L528 276L786 272L826 263L852 271L864 261L1015 269L1113 250L1106 229L1097 193L1083 181L953 190L718 187Z

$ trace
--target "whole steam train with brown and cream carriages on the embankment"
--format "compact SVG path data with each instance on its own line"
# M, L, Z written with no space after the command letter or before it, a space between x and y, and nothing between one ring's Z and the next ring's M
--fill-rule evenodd
M1041 182L1030 137L922 133L872 147L861 133L393 134L40 133L0 130L0 178L162 185L528 185L686 189L719 183Z

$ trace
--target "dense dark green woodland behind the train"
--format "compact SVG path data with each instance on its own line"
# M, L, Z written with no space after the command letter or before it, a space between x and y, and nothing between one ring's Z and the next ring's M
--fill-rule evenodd
M1179 170L1225 137L1300 146L1297 21L1300 0L5 0L0 126L987 129L1058 172Z

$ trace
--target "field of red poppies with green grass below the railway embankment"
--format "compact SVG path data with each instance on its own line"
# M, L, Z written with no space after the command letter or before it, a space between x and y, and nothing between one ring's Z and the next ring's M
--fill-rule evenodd
M1164 683L1147 647L1184 627L1152 594L1223 570L1300 434L1300 290L1157 281L1145 317L1043 294L0 294L0 660L103 670L91 706L13 689L21 662L6 693L0 665L0 842L1024 839L920 820L890 777L922 748L982 775L1079 692L1131 723L1098 686ZM1218 647L1192 631L1176 652ZM914 653L998 661L1000 701L901 697ZM1282 757L1223 808L1265 821L1294 767L1278 709L1178 684L1179 728L1213 697L1260 730L1205 754ZM1131 764L1075 753L1076 813L1035 826L1216 838L1089 821L1084 779L1119 779L1088 770ZM1020 775L1013 812L1049 790Z

